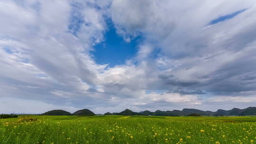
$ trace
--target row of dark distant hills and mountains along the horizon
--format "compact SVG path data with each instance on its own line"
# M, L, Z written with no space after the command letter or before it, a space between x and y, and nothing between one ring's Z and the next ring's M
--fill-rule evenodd
M42 115L49 116L95 116L95 114L89 109L81 109L73 114L64 110L51 110L43 113ZM256 116L256 107L248 107L244 109L233 108L231 110L223 110L218 109L216 112L213 111L203 111L199 109L193 108L184 108L183 110L172 110L172 111L161 111L156 110L155 112L151 112L148 110L141 112L133 112L129 109L126 109L119 113L110 113L107 112L104 115L124 115L124 116Z

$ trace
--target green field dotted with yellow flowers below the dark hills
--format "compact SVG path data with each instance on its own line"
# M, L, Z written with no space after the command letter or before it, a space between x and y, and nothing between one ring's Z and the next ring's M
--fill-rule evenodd
M256 144L256 117L29 117L0 119L0 144Z

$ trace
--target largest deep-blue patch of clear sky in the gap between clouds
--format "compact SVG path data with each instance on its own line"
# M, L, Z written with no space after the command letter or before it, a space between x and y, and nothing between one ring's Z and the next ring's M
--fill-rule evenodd
M104 41L93 46L95 62L98 64L109 64L110 67L125 64L125 61L131 59L137 54L138 45L142 39L135 37L130 42L126 42L122 36L117 34L116 28L111 20L107 22L108 29L104 34Z

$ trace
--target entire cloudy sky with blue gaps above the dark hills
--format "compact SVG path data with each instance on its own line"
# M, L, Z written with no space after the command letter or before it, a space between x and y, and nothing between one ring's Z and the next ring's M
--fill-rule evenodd
M255 0L0 0L0 113L256 106Z

